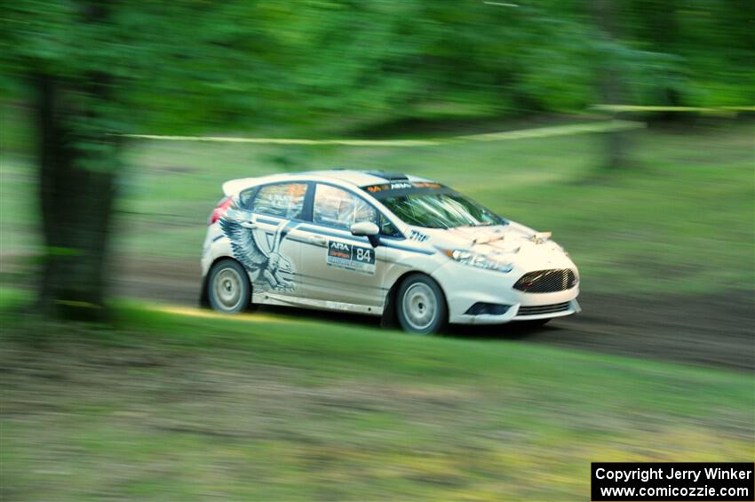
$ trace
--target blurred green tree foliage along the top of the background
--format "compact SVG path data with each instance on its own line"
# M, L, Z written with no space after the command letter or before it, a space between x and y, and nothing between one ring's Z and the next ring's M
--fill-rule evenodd
M76 126L157 133L575 110L598 100L606 61L634 104L755 100L751 3L618 2L613 38L589 3L512 5L20 0L4 7L2 84L107 74L104 113Z

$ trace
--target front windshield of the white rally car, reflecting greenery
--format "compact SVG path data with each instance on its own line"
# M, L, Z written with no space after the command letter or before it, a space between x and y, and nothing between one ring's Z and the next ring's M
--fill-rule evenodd
M486 227L504 220L456 193L387 196L380 199L404 223L425 228Z

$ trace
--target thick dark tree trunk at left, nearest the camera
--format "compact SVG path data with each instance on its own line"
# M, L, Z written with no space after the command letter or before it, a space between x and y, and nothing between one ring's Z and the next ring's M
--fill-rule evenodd
M76 131L75 117L86 120L96 114L82 110L80 102L69 102L68 83L48 75L36 75L33 81L44 235L38 307L52 317L104 319L115 187L115 170L108 167L115 158L108 158L109 148L92 148L91 134ZM92 169L98 164L99 169Z

